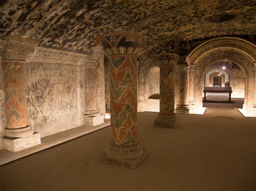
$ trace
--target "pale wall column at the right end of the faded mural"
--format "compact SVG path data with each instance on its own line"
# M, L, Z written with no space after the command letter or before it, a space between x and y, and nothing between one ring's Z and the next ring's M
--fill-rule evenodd
M104 115L100 114L97 107L97 80L98 80L98 60L90 59L85 67L85 125L99 125L104 123Z

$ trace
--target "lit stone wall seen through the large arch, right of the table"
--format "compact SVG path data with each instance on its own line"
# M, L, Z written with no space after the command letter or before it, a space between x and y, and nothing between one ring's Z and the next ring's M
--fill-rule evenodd
M245 97L245 73L240 67L232 69L233 79L230 86L232 87L232 97Z

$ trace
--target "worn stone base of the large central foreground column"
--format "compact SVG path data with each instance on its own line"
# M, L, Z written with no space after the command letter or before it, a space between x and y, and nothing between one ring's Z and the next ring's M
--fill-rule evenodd
M126 168L136 168L147 155L145 148L141 148L139 145L118 147L110 144L100 157L99 162Z

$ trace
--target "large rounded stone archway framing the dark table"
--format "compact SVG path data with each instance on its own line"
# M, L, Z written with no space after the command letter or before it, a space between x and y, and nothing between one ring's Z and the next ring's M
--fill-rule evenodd
M239 38L217 38L208 40L194 49L188 57L191 65L195 67L194 100L196 111L200 111L202 104L203 77L206 69L214 62L230 60L245 73L245 101L244 111L246 115L254 114L255 84L254 65L256 63L255 45Z

